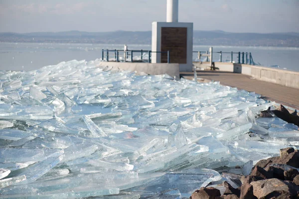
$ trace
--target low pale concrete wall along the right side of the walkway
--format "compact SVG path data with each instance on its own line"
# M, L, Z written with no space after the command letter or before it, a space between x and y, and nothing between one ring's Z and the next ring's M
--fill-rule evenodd
M209 62L193 62L193 65L197 68L210 69ZM218 68L219 71L241 73L252 76L257 80L299 89L299 72L226 62L215 62L215 67Z

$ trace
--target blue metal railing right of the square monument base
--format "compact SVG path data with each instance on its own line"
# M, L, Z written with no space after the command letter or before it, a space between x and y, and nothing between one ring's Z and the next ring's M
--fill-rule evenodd
M210 54L209 54L209 51L193 51L193 53L198 53L198 59L200 60L200 57L207 57L207 61L210 57ZM202 53L205 53L205 54L202 54ZM255 65L254 61L253 61L253 58L252 58L252 55L251 53L248 53L248 52L222 52L222 51L219 51L219 52L212 52L212 53L219 53L220 55L220 59L219 61L222 62L222 55L223 54L229 54L230 55L230 62L233 63L233 59L234 59L234 54L237 54L237 58L238 58L238 64L249 64L250 65ZM248 59L249 57L249 59ZM242 59L242 61L241 61Z

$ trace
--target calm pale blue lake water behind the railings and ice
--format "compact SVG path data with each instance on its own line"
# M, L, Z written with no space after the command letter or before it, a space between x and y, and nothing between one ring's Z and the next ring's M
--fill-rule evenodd
M128 44L129 50L150 50L150 45ZM95 60L102 58L102 49L122 50L124 45L112 44L61 44L61 43L5 43L0 42L0 70L35 70L69 60ZM193 46L194 51L207 51L209 46ZM213 46L213 52L251 52L255 63L268 67L299 71L299 48ZM136 54L136 56L140 56ZM219 53L213 53L219 61ZM237 54L233 60L238 62ZM197 54L193 53L193 59ZM230 54L223 54L222 61L230 61Z

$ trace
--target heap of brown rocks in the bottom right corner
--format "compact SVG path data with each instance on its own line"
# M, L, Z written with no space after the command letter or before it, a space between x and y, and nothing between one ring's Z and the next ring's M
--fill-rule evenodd
M299 199L299 151L291 147L259 161L248 176L224 175L230 182L196 190L190 199Z

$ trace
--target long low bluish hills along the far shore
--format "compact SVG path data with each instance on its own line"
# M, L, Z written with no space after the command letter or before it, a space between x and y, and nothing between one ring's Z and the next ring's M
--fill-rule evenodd
M299 33L232 33L221 30L193 33L194 45L299 47ZM0 42L151 44L151 31L0 33Z

